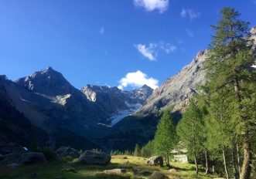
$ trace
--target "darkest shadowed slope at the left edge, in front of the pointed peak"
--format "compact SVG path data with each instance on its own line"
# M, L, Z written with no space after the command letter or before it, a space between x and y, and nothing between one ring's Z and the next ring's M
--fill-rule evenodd
M0 142L0 150L5 148L7 151L9 141L26 146L32 142L46 145L49 140L48 134L15 109L3 85L5 81L8 81L6 76L0 76L0 138L6 139L5 142Z

